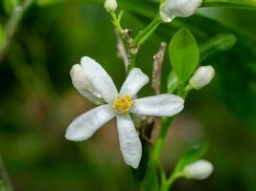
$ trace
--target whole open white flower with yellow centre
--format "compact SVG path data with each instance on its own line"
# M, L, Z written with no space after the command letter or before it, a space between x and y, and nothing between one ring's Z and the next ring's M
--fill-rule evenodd
M75 141L90 138L108 120L117 117L120 148L125 161L133 168L139 165L142 146L129 113L171 117L183 109L184 100L169 94L133 100L149 82L149 77L137 68L129 72L120 93L104 68L90 57L82 57L81 65L73 66L70 74L82 96L94 103L103 103L103 100L105 103L75 118L68 126L65 138Z

